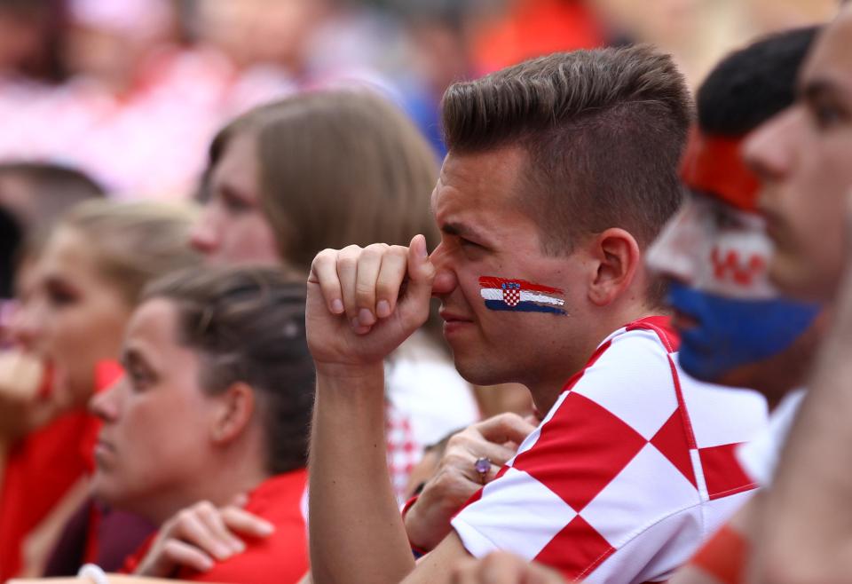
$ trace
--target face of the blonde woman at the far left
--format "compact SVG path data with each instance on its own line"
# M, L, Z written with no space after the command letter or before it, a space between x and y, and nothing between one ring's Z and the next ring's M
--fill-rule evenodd
M121 290L99 272L81 233L61 227L22 281L12 336L55 368L55 391L85 403L94 388L94 367L116 359L130 306Z

